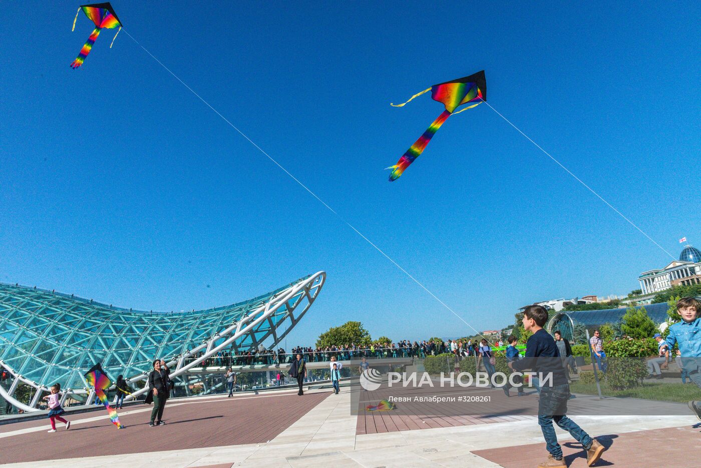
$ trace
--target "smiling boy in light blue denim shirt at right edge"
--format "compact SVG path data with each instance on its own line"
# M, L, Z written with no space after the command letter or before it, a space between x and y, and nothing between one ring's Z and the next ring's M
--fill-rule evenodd
M672 350L679 344L683 362L683 370L688 373L693 383L701 388L701 302L693 297L685 297L676 301L676 313L681 322L669 327L669 335L665 342ZM689 408L701 421L701 401L689 401Z

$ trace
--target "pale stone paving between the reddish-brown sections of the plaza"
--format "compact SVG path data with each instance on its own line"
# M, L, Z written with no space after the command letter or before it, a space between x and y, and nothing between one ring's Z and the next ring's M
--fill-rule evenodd
M351 415L350 387L341 394L330 394L310 411L292 423L287 429L267 443L250 443L237 446L209 448L187 448L183 450L153 451L104 457L85 457L53 460L42 463L8 464L8 467L125 467L160 466L177 467L292 467L292 468L344 468L344 467L451 467L469 466L475 468L495 468L501 466L537 466L531 459L525 464L514 461L514 453L542 453L545 459L545 444L536 418L512 422L494 422L483 425L437 427L414 429L381 434L356 434L357 416ZM315 392L328 392L318 390ZM304 397L301 397L304 398ZM672 434L676 437L676 447L683 455L684 446L698 445L701 425L691 415L685 416L578 416L576 422L592 436L601 434L630 434L631 441L637 443L616 443L608 449L611 459L595 466L615 466L639 468L639 464L627 464L627 452L635 453L639 463L649 452L649 460L654 460L658 452L655 444L641 443L646 439L642 431L652 434ZM670 428L659 431L651 429ZM671 429L679 428L679 429ZM156 429L154 429L156 430ZM570 439L557 429L559 439ZM3 439L0 434L0 450ZM117 441L115 437L113 442ZM681 438L680 438L681 437ZM690 438L688 441L687 438ZM623 437L621 437L623 439ZM490 452L491 449L509 448ZM581 452L579 448L569 448L568 453ZM5 450L3 450L5 453ZM479 455L477 453L479 453ZM500 457L510 454L509 463L498 464ZM482 455L482 456L481 456ZM536 455L537 456L537 455ZM579 463L580 455L575 460ZM496 460L496 461L491 461ZM3 457L3 461L11 460ZM580 464L572 464L573 467ZM687 467L701 466L701 458L687 458Z

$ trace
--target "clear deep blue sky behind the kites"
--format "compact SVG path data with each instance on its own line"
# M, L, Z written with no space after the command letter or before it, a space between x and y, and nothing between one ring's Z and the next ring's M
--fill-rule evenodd
M701 244L697 2L552 6L114 1L125 30L475 328L536 300L627 294L669 257L484 105L396 182L442 105L489 103L672 252ZM0 281L132 308L243 300L318 270L288 338L471 334L161 68L77 4L3 6Z

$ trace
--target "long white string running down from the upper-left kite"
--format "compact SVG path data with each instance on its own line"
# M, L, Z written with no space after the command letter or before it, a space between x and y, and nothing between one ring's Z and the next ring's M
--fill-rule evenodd
M149 50L148 50L147 48L145 48L144 46L142 46L141 43L139 43L139 41L137 41L136 39L134 39L134 37L133 37L131 34L129 34L129 32L128 32L126 29L124 30L124 34L126 34L127 36L129 36L129 37L132 39L132 41L134 41L134 42L137 44L137 46L139 46L140 48L144 49L144 52L146 52L147 54L151 55L151 58L153 58L154 60L156 60L156 62L158 62L158 64L161 65L161 67L163 67L166 71L168 71L168 73L170 73L175 79L177 79L177 81L179 81L180 83L182 83L182 85L184 85L185 88L187 88L188 90L190 90L190 92L191 92L193 95L195 95L198 99L200 99L200 101L202 101L205 105L207 105L207 107L209 107L210 109L212 109L212 111L214 111L214 112L217 114L217 116L221 117L222 120L223 120L224 122L228 123L229 126L230 126L231 128L233 128L233 130L236 130L236 132L238 132L242 137L244 137L245 139L247 139L248 142L250 142L250 144L252 144L253 146L255 146L256 149L257 149L258 151L260 151L261 153L263 153L269 160L271 160L273 163L275 163L275 165L277 165L278 167L280 167L280 169L283 170L283 171L285 172L285 174L287 174L287 175L289 175L290 177L292 177L292 179L293 179L295 182L297 182L297 184L299 184L299 186L301 186L302 188L304 188L304 190L308 191L308 193L310 193L314 198L316 198L317 200L319 200L319 201L321 202L322 205L324 205L325 207L327 207L327 209L329 209L330 212L332 212L333 214L335 214L336 216L338 216L339 219L340 219L341 221L343 221L343 223L346 224L346 226L348 226L349 228L353 229L353 230L355 231L355 233L357 233L358 235L360 235L360 237L363 238L363 239L365 240L365 242L367 242L369 245L372 245L372 247L374 247L374 249L376 249L377 252L380 252L380 254L382 254L386 259L388 259L390 262L392 262L392 263L394 264L394 266L396 266L397 268L399 268L399 269L402 271L402 273L404 273L404 275L407 275L409 278L411 278L412 281L414 281L416 284L418 284L418 286L421 287L421 289L423 289L423 290L426 291L428 294L430 294L430 296L433 297L436 301L438 301L441 305L443 305L444 308L447 308L450 312L453 313L453 315L455 315L456 317L458 317L458 319L461 319L461 321L462 321L465 325L467 325L468 327L470 327L470 329L472 329L472 331L475 331L475 333L477 333L477 336L481 336L482 338L484 338L484 339L487 341L487 343L491 343L491 341L490 341L488 338L486 338L486 336L482 335L482 333L480 333L477 329L475 329L474 326L472 326L472 325L470 325L468 322L466 322L465 319L463 319L463 317L461 317L460 315L458 315L458 313L455 312L455 310L451 309L451 308L449 307L449 305L447 305L446 303L444 303L443 301L441 301L440 298L438 298L438 296L436 296L435 294L433 294L433 292L431 292L431 291L430 291L426 286L424 286L420 281L416 280L416 278L413 277L411 274L409 274L409 272L408 272L407 270L404 270L404 268L402 268L402 266L400 266L399 263L397 263L396 261L394 261L394 259L392 259L392 257L390 257L388 254L386 254L385 252L383 252L382 249L380 249L379 247L377 247L376 245L374 245L374 243L373 243L371 240L369 240L368 238L366 238L365 235L363 235L363 234L360 232L360 230L356 229L355 226L353 226L351 223L349 223L348 221L346 221L346 219L344 219L343 216L341 216L340 214L338 214L338 212L336 212L335 209L333 209L332 207L329 207L329 205L327 205L327 203L326 203L324 200L322 200L321 198L319 198L319 196L318 196L316 193L314 193L313 191L311 191L310 188L308 188L308 187L307 187L306 185L304 185L301 181L299 181L299 179L297 179L297 177L294 177L294 175L292 175L292 174L290 173L290 171L288 171L287 169L285 169L285 167L283 167L283 165L281 165L280 163L278 163L278 161L276 161L275 159L273 159L272 156L270 156L270 155L269 155L268 153L266 153L263 149L261 149L260 146L258 146L257 144L255 144L255 142L253 142L253 140L250 139L244 132L242 132L241 130L238 130L238 128L236 128L236 125L233 125L233 123L229 122L229 120L228 120L226 117L222 116L222 114L219 113L219 111L217 111L217 109L215 109L214 107L212 107L212 105L211 105L209 102L205 101L205 99L203 99L203 97L201 97L200 95L198 95L192 88L190 88L184 81L182 81L182 80L179 78L179 76L177 76L175 73L173 73L172 71L170 71L170 69L169 69L168 67L166 67L166 66L163 64L163 62L161 62L161 60L158 60L158 59L154 56L154 54L152 54L151 52L149 52ZM429 88L429 89L430 89L430 88Z

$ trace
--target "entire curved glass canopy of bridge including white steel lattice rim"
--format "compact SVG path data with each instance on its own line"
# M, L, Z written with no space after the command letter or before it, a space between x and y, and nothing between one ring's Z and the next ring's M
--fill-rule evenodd
M36 411L43 395L60 383L63 399L90 401L83 373L102 363L109 376L144 381L156 358L171 378L226 350L239 355L259 345L275 347L299 323L326 280L326 273L300 278L262 296L224 307L191 312L147 312L118 308L55 291L0 283L0 366L11 378L0 395L25 411ZM13 395L32 387L29 401ZM135 397L146 392L141 385Z

